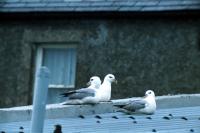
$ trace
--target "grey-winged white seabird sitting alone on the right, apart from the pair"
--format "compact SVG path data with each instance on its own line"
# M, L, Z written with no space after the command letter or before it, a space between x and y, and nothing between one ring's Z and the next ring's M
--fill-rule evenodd
M143 99L131 100L125 105L114 106L124 109L121 111L125 113L154 114L156 111L155 94L152 90L148 90Z

